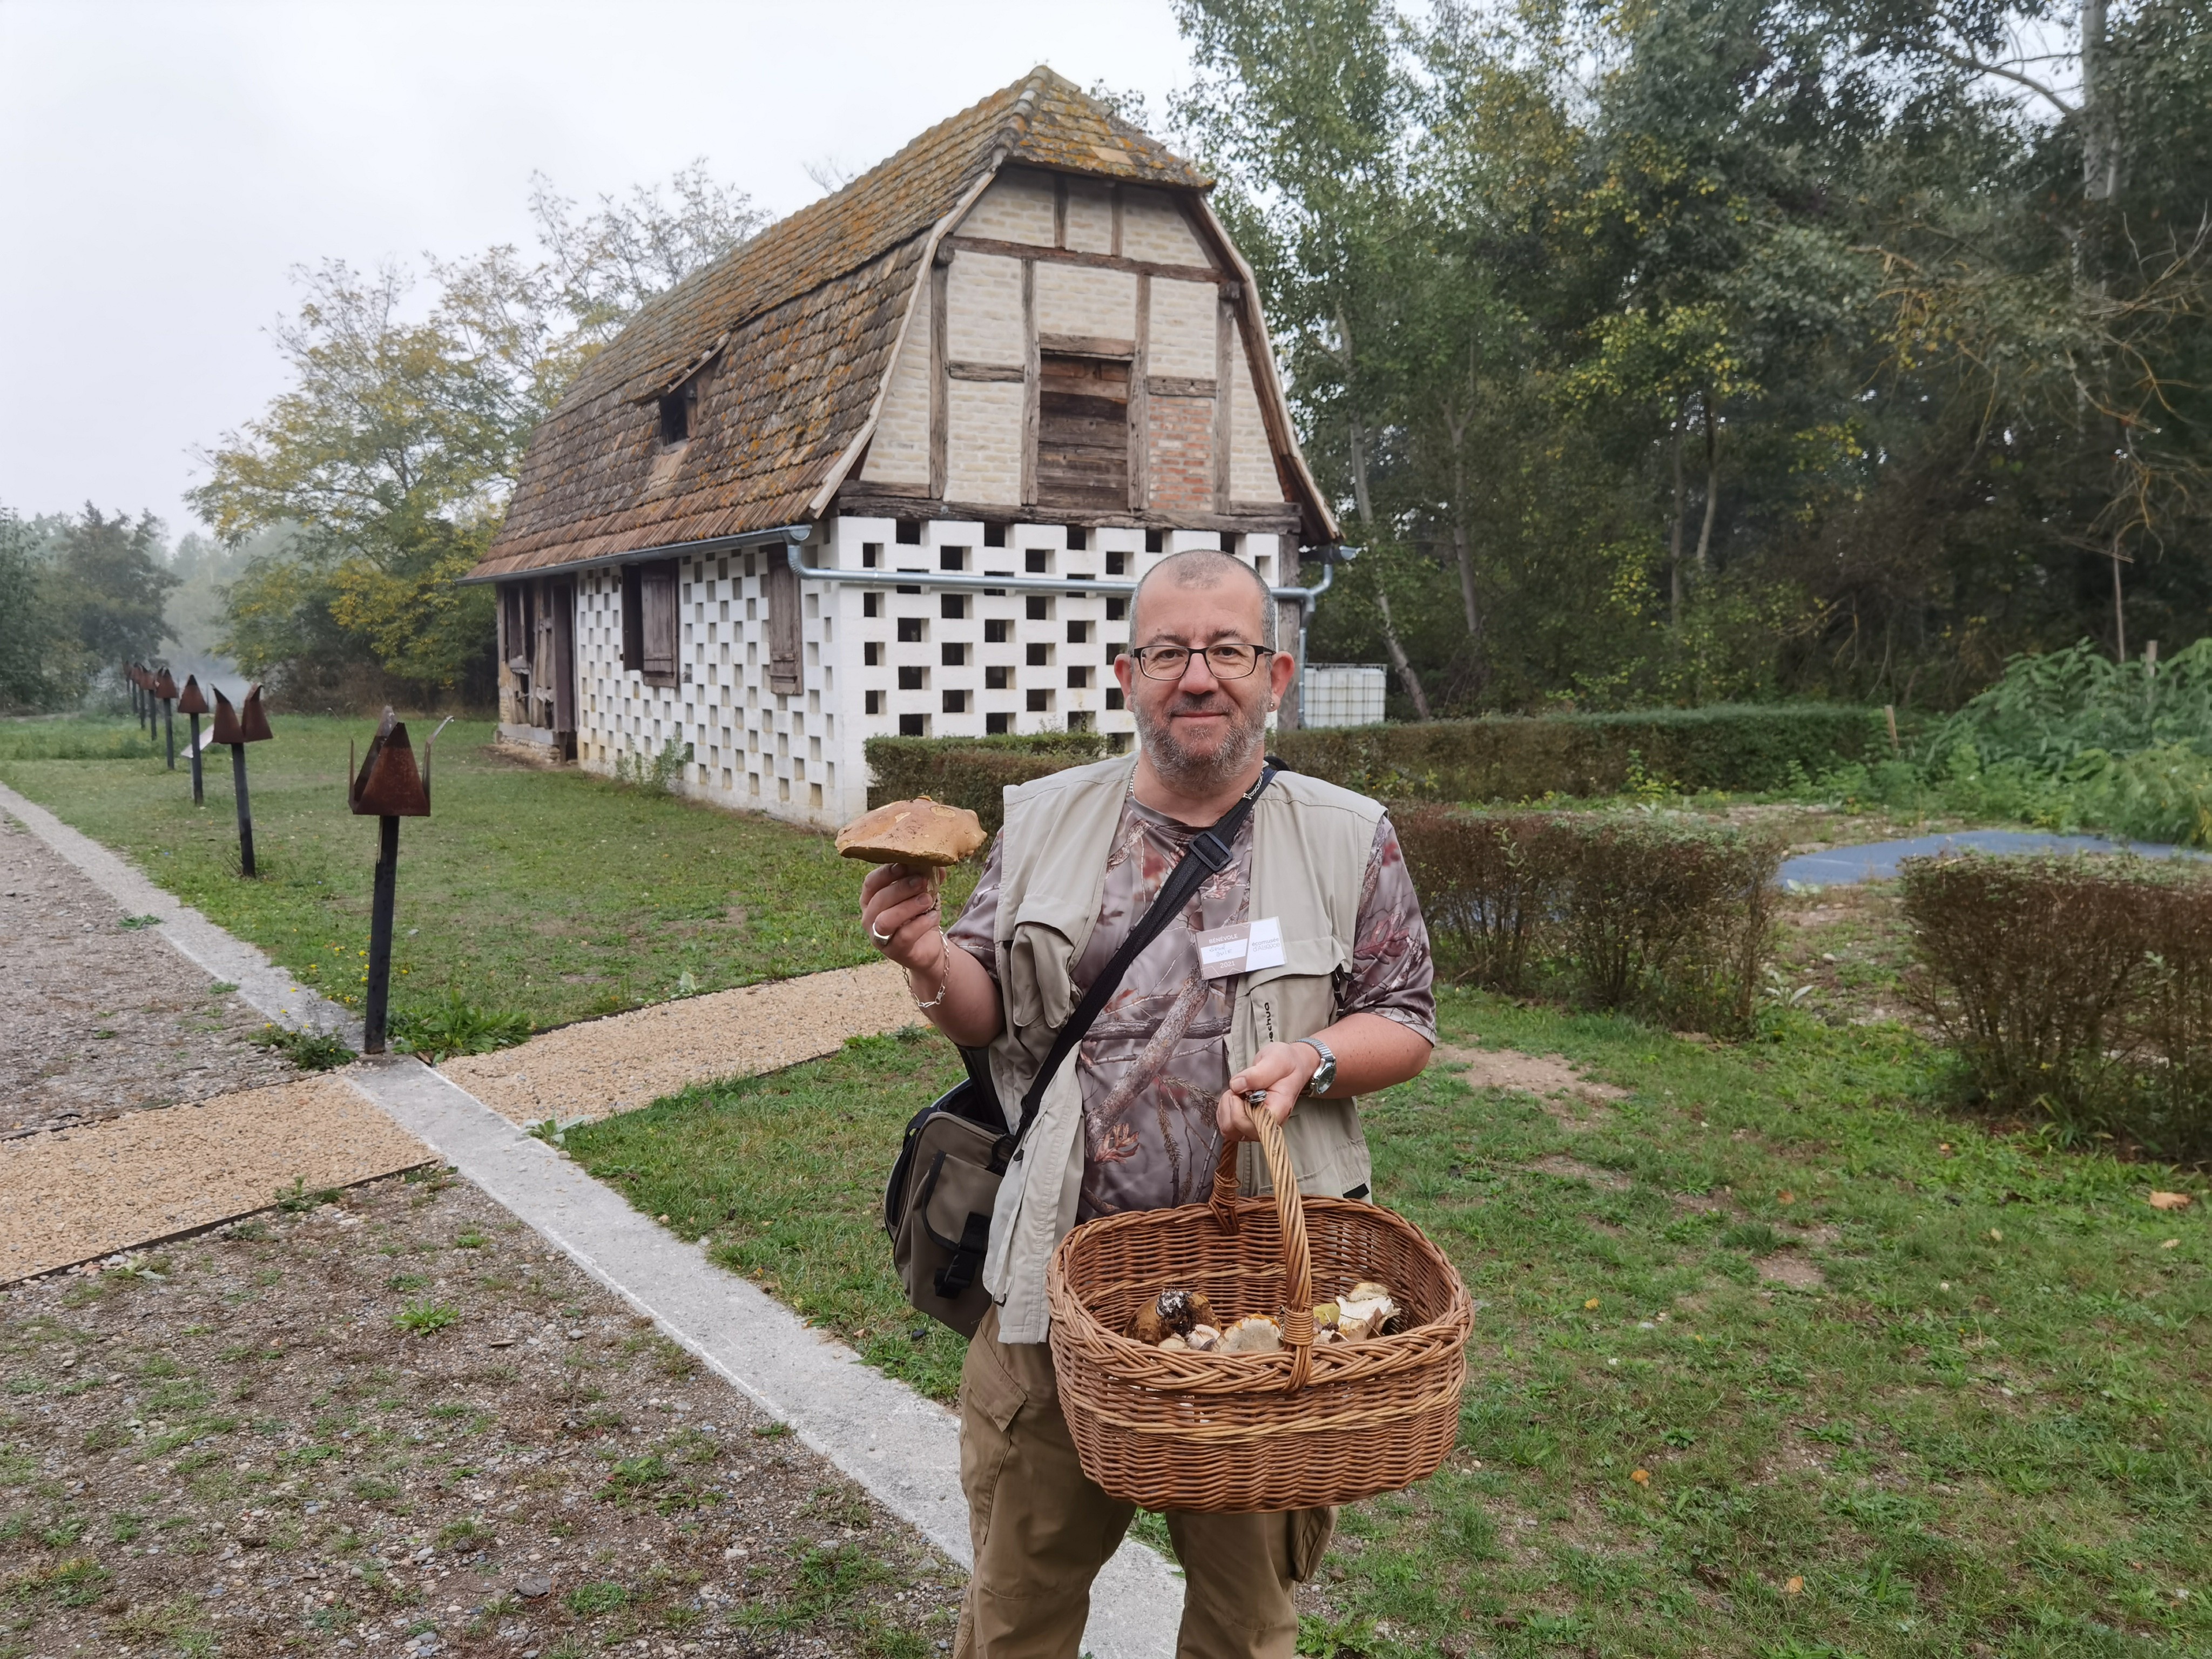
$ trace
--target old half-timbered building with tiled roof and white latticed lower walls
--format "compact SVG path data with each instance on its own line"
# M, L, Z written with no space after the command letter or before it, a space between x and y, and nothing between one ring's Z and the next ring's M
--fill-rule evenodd
M467 577L502 739L834 825L876 734L1126 743L1166 553L1250 562L1292 646L1336 522L1208 184L1040 69L648 303Z

